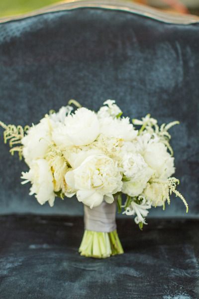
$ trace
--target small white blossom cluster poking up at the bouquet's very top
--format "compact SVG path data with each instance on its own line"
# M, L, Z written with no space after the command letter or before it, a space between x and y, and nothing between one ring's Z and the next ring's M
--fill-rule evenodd
M121 114L122 111L120 108L115 104L114 100L106 100L100 110L98 111L98 117L104 118L104 117L112 117L115 118L117 115Z

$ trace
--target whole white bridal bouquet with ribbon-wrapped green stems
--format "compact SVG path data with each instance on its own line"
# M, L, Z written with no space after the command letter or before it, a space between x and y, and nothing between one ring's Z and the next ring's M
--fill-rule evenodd
M176 189L179 180L172 176L175 167L168 130L178 123L159 127L149 114L131 123L122 117L115 101L105 101L94 112L70 100L31 127L2 122L0 126L11 154L18 151L29 166L21 176L22 184L31 183L29 194L50 206L56 196L76 195L85 211L79 252L106 258L123 253L116 232L116 205L119 213L133 216L141 230L150 209L165 209L172 193L182 199L188 212L185 198Z

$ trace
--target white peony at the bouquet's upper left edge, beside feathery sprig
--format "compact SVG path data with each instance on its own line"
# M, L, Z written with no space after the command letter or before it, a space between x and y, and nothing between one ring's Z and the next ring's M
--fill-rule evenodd
M51 130L53 122L49 118L41 119L40 123L33 125L28 134L22 138L23 156L25 162L30 166L31 162L37 158L43 158L52 143Z

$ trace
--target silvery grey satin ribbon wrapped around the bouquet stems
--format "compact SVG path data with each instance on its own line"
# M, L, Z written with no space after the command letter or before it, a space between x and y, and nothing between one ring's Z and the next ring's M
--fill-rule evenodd
M85 230L110 233L116 230L115 222L116 203L102 203L90 209L84 205L84 224Z

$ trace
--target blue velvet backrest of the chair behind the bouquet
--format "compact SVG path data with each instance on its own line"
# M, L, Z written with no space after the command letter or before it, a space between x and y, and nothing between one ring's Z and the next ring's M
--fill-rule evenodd
M51 12L0 24L0 120L37 123L69 99L98 109L115 99L124 116L151 113L171 130L179 190L198 217L199 23L167 24L101 8ZM2 134L2 131L1 131ZM40 206L20 185L24 162L0 142L0 213L82 214L75 198ZM161 208L153 216L162 216ZM173 198L165 216L184 216Z

